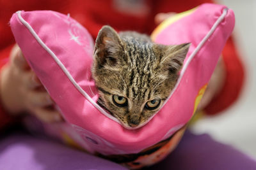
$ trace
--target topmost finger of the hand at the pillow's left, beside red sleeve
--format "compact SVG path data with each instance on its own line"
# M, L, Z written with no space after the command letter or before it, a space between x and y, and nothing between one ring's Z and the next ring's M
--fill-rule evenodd
M13 66L20 70L29 70L28 62L25 60L19 46L15 46L13 52L11 53L11 60Z

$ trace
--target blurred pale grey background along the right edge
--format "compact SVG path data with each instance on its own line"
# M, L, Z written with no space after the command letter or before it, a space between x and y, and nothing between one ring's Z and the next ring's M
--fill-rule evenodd
M256 1L219 0L234 10L234 38L246 69L246 83L236 104L223 114L205 117L193 125L196 134L232 145L256 159Z

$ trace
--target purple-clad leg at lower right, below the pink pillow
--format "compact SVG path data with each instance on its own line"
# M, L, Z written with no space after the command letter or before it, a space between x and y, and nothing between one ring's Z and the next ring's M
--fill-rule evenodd
M150 169L216 170L256 169L256 160L232 146L214 141L209 135L195 135L187 131L177 148Z

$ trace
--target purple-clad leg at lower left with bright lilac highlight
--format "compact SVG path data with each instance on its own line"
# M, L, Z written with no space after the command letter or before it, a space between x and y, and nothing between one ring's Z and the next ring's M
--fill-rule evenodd
M125 168L55 141L38 139L26 134L15 134L0 141L0 169L115 170Z

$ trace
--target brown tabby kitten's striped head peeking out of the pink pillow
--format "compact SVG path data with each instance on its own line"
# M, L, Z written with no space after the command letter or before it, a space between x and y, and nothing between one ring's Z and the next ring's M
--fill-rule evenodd
M98 103L125 127L140 127L170 96L189 45L157 45L145 34L102 27L92 67Z

